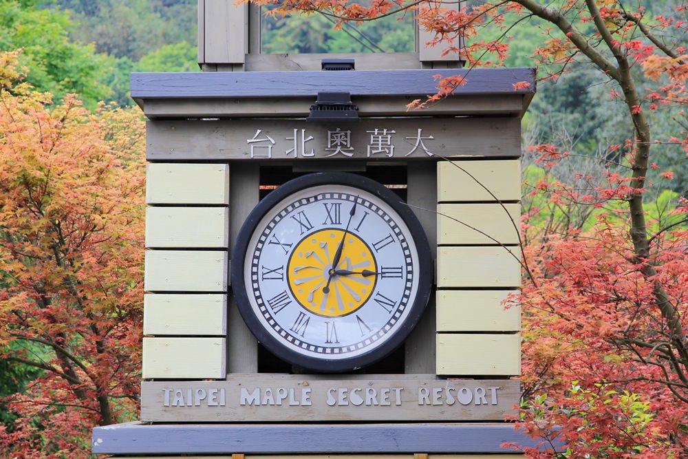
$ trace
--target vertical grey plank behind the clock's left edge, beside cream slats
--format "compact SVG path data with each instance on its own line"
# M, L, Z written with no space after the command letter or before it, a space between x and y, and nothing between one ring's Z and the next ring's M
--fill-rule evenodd
M241 226L250 211L258 204L260 170L258 164L233 164L231 180L230 250L235 246ZM227 354L230 373L254 373L258 371L258 342L241 318L237 300L230 295L229 336L232 337Z

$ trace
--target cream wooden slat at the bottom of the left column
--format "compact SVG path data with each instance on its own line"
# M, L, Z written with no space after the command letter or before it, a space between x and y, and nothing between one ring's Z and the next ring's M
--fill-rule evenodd
M224 378L224 338L144 338L143 378Z

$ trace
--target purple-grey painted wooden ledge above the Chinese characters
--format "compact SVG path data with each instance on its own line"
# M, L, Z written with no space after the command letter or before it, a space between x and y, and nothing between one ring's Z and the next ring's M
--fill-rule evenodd
M208 4L206 3L206 8ZM208 15L206 14L206 18ZM207 26L206 26L207 27ZM208 61L206 43L206 61ZM131 74L132 98L317 96L336 87L352 96L425 96L437 92L437 70L356 70L354 72L155 72ZM530 68L447 69L442 76L466 76L455 94L535 92ZM514 88L526 81L527 88Z

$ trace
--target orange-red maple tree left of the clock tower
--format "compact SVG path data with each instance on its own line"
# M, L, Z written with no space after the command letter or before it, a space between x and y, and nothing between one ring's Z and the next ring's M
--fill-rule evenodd
M144 217L140 114L20 83L0 54L0 359L37 375L4 401L0 456L83 457L136 418Z

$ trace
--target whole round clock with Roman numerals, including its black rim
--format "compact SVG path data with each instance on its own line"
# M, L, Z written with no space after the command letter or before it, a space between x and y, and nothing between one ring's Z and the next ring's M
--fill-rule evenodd
M242 317L282 359L312 370L372 363L407 337L427 303L427 239L384 186L316 173L272 191L232 260Z

